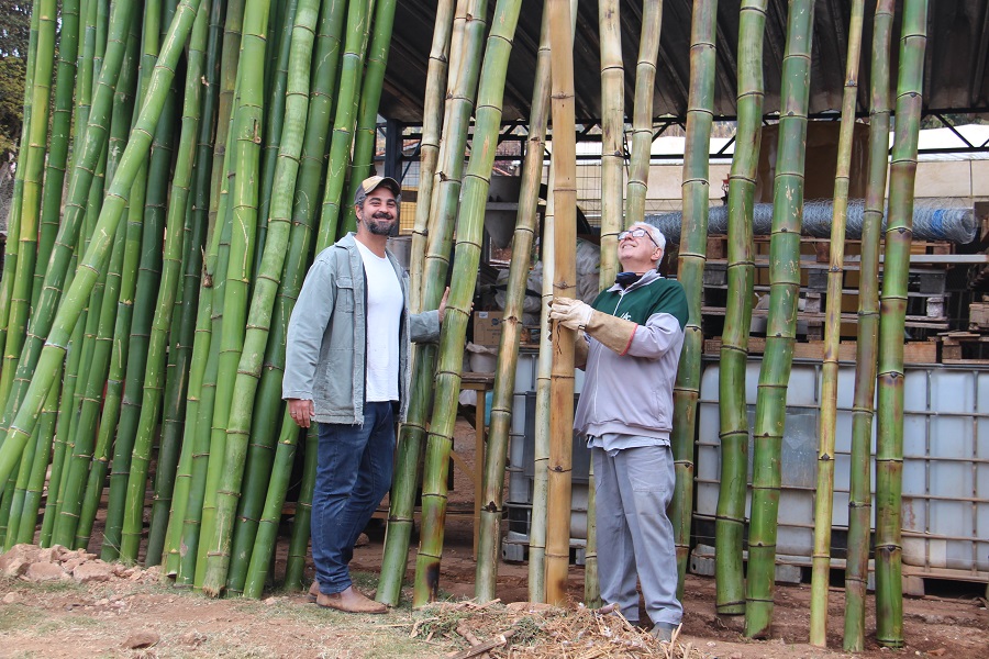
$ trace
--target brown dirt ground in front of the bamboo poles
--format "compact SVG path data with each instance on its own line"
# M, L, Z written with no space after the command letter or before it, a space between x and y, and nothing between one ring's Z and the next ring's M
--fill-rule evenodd
M473 462L474 434L459 424L455 448ZM459 473L452 493L454 504L465 504L473 488ZM384 528L368 529L369 544L355 550L352 569L359 588L370 593L380 570ZM95 549L98 540L90 550ZM446 525L441 589L449 600L471 597L475 562L469 520ZM284 552L284 548L280 550ZM279 563L281 561L278 561ZM284 565L277 566L282 569ZM499 567L498 596L502 603L527 599L527 566ZM407 577L414 571L414 552ZM311 570L310 570L311 577ZM929 589L932 591L933 589ZM584 570L570 570L569 592L581 599ZM940 584L937 595L904 601L907 647L879 648L871 636L875 619L866 623L866 652L860 657L921 656L989 659L989 612L985 591L963 584ZM273 592L263 601L210 600L171 588L156 572L136 579L78 584L71 580L27 583L0 578L0 657L445 657L465 647L460 635L437 628L423 635L424 625L436 625L430 610L413 612L409 592L403 603L384 616L353 616L318 608L304 594ZM689 576L684 601L686 616L680 650L690 657L797 659L851 657L842 654L843 591L833 589L829 610L829 648L807 645L810 585L777 589L771 640L747 641L742 618L714 613L714 580ZM870 603L871 607L871 596ZM442 617L442 616L440 616ZM643 616L644 617L644 616ZM493 618L492 618L493 619ZM418 632L419 630L419 632ZM414 638L413 638L414 636ZM479 640L487 640L479 638ZM684 646L687 646L686 648ZM504 657L504 648L492 657ZM560 651L543 656L630 656L624 651L589 655ZM516 646L511 656L532 656ZM636 655L643 656L643 655ZM655 656L666 657L658 648Z

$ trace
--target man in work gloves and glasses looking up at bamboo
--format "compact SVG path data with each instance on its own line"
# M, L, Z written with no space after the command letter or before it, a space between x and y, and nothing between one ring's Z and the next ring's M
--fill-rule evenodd
M619 234L624 272L593 304L557 298L549 317L571 330L578 365L586 354L584 389L574 429L587 437L594 465L601 599L638 624L636 578L653 635L669 640L684 608L677 601L674 529L666 509L674 492L673 388L677 377L687 298L657 268L666 238L645 223Z

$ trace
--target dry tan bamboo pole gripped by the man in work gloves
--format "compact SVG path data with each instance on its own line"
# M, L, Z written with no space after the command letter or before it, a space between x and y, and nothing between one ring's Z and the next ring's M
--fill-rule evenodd
M577 144L575 134L574 53L570 5L566 0L549 0L549 44L553 98L553 202L555 297L576 293L577 241ZM574 340L576 333L556 325L553 328L554 358L549 381L548 492L546 502L546 601L563 605L567 596L570 562L570 471L574 423Z

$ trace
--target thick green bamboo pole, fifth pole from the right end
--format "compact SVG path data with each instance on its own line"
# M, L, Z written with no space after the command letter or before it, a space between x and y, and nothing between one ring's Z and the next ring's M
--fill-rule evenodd
M742 563L748 471L745 368L755 281L752 214L763 127L763 35L767 1L746 0L738 18L738 126L729 175L729 293L719 378L721 487L714 520L714 605L721 615L745 613Z

